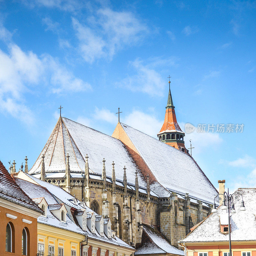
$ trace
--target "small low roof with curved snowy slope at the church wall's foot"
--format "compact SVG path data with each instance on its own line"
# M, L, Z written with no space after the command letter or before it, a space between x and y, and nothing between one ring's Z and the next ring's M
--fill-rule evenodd
M137 248L135 255L140 254L156 254L156 253L170 253L176 255L184 255L184 251L171 245L164 237L159 233L156 228L149 225L143 225L142 239L145 243L141 247Z

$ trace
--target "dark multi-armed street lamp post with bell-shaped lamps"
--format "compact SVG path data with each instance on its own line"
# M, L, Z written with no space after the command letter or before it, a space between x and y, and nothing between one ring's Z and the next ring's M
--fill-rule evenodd
M241 193L239 193L238 191L236 191L234 194L239 194L240 196L242 196L242 203L241 203L240 211L245 211L243 195ZM233 200L233 195L229 194L229 191L228 191L228 193L225 191L224 194L218 194L217 196L220 196L220 195L224 196L224 200L223 200L223 204L221 206L221 210L228 210L229 256L232 256L232 252L231 252L231 235L230 235L230 233L231 233L230 213L236 213L236 209L235 209L235 204L234 204L234 200ZM212 206L212 212L217 212L216 204L215 204L215 199L217 198L217 196L214 197L214 202L213 202L213 206Z

